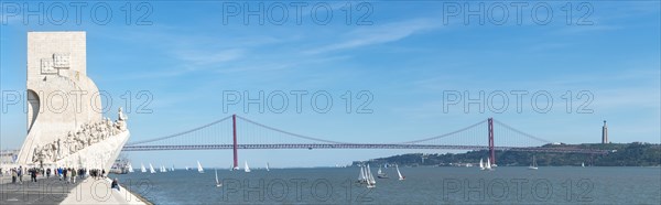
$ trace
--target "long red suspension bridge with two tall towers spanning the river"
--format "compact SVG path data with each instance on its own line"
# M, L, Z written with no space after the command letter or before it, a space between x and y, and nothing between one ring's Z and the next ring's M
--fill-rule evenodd
M497 128L495 128L495 126ZM495 143L498 130L498 145ZM239 140L239 136L241 137ZM485 140L485 136L487 137ZM494 118L444 134L394 143L354 143L303 136L231 115L183 132L127 143L122 151L234 150L238 168L238 150L248 149L433 149L488 150L496 163L496 150L525 152L561 152L605 154L605 150L540 147L551 141L525 133Z

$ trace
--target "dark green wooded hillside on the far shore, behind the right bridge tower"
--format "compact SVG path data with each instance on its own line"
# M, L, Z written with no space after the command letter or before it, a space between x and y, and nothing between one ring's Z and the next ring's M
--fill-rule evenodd
M541 148L572 148L607 151L594 153L556 153L496 150L496 163L499 166L529 166L537 157L539 166L632 166L660 168L661 144L632 143L583 143L545 144ZM354 161L360 164L398 164L400 166L476 166L489 158L488 150L474 150L465 153L408 153L387 158ZM469 164L469 165L468 165Z

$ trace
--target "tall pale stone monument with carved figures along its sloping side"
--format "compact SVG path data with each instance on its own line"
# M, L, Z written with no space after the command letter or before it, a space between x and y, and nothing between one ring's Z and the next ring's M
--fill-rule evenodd
M104 118L86 55L85 32L28 33L28 137L18 164L109 170L117 159L128 118L121 108Z

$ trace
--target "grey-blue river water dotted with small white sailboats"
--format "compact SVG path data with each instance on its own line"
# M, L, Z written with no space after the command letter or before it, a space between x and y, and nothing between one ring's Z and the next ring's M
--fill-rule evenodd
M660 204L659 168L393 168L367 188L359 168L111 175L154 204ZM373 174L376 169L372 168Z

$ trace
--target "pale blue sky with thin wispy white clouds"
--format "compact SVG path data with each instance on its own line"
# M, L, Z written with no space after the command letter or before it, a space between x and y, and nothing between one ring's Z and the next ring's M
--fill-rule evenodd
M550 141L598 142L602 121L608 120L613 142L660 143L659 2L590 2L585 7L574 2L570 24L563 10L566 2L549 2L552 19L543 23L539 21L548 13L539 10L543 7L535 7L539 2L522 9L520 23L510 2L484 2L485 10L495 13L467 17L467 23L464 13L451 15L448 9L458 6L462 11L466 7L475 10L477 2L351 2L349 25L347 2L342 1L321 2L321 9L328 6L333 10L327 24L311 19L311 8L318 2L307 2L301 23L294 19L291 2L283 2L289 17L282 24L268 19L260 24L257 17L248 17L246 23L242 14L228 13L227 9L235 6L231 3L166 1L140 8L132 2L129 25L121 8L126 2L108 3L112 19L107 24L89 18L90 8L97 3L90 2L82 10L79 25L73 20L72 7L67 7L69 19L62 25L47 21L48 17L59 17L57 13L45 15L43 25L35 18L25 25L22 15L8 13L7 8L15 3L2 3L1 89L25 89L28 31L86 31L88 76L111 94L111 110L123 104L122 94L133 95L131 140L166 136L236 112L283 130L334 141L409 141L494 117ZM258 3L236 6L245 11ZM281 17L277 7L280 2L263 3L273 9L264 17ZM24 4L19 6L24 9ZM501 24L494 23L503 17L499 6L508 7L509 12ZM46 10L53 7L44 6ZM144 20L151 24L139 25L136 21L147 10L138 9L147 8L152 10ZM538 19L531 17L531 8L538 8ZM315 13L317 21L324 19L321 11ZM357 23L364 14L367 18L361 23L367 25ZM480 17L485 18L484 24L479 23ZM582 17L585 19L578 22ZM586 22L592 25L584 25ZM136 98L140 90L153 95L148 106L152 114L134 112L142 102ZM246 114L242 106L230 106L224 112L224 90L248 90L251 95L259 90L326 90L334 106L318 114L304 101L299 114L290 98L283 114L268 109L260 114L257 107ZM354 109L359 102L356 94L369 90L373 100L367 108L372 112L346 114L342 95L347 90L354 95ZM529 95L523 98L521 112L516 111L511 95L502 114L488 108L479 112L477 106L466 114L462 105L449 106L444 112L443 94L453 90L470 95L480 90L487 95L524 90ZM571 114L565 111L562 98L567 90L574 96ZM592 114L576 112L586 99L576 98L582 90L594 98L587 106ZM537 91L553 97L549 112L532 109L530 96ZM107 116L115 118L115 112ZM1 119L0 147L19 148L25 136L22 107L8 107ZM410 152L447 151L249 150L240 151L239 158L254 166L266 162L272 166L316 166ZM193 165L195 160L208 166L231 163L230 151L132 152L128 157L137 163L176 166Z

